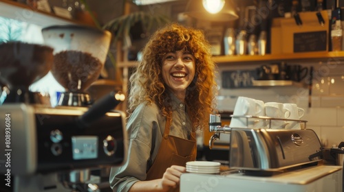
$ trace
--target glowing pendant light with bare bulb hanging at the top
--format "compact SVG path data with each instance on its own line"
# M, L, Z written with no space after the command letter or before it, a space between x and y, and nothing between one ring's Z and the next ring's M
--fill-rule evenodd
M185 14L205 21L226 22L239 18L234 0L189 0Z

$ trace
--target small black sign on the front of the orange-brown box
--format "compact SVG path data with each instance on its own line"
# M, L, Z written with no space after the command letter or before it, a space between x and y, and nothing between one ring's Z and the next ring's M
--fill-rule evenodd
M308 51L327 51L327 33L294 33L294 53Z

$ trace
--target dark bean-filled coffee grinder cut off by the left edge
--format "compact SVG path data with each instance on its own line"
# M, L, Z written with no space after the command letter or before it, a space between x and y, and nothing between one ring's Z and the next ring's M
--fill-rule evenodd
M8 42L0 45L0 84L9 93L3 104L41 104L41 94L29 91L52 68L53 49L45 45Z

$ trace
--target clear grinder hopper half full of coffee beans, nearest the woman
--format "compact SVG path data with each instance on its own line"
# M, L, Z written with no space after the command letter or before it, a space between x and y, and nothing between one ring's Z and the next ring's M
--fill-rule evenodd
M54 25L42 29L42 34L45 44L54 47L52 75L65 88L58 105L91 104L85 90L105 64L111 33L80 25Z

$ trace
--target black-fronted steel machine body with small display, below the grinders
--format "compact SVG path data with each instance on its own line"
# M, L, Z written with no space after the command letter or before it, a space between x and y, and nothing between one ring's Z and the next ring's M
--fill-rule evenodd
M88 185L97 191L94 184L100 183L92 181L90 171L125 162L124 112L109 110L80 123L87 112L83 107L0 106L0 124L8 125L0 128L0 148L10 154L0 157L0 172L8 174L13 191L85 191Z

